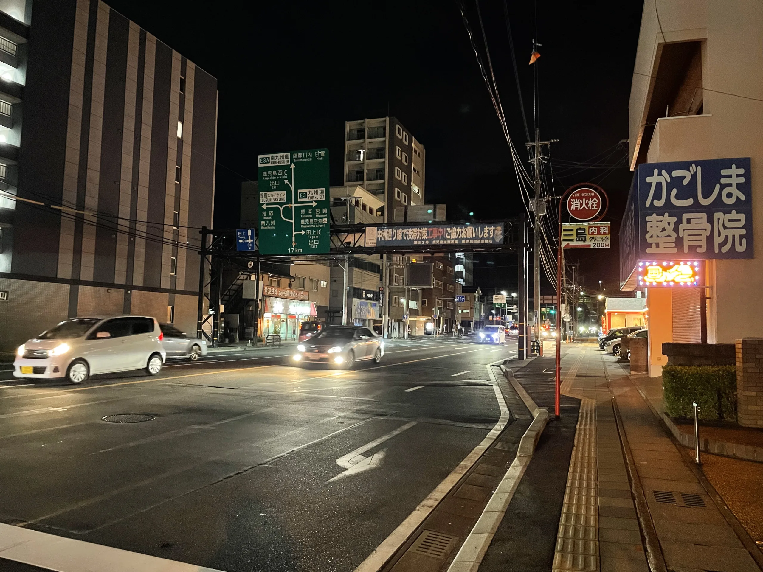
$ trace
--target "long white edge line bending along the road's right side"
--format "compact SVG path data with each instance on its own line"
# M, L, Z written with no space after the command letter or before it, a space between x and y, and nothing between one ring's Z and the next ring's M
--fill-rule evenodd
M503 360L491 362L485 366L488 368L488 376L493 381L493 391L498 402L498 407L501 408L501 418L498 419L498 422L488 435L485 435L485 439L482 439L482 442L472 449L471 453L466 455L466 458L464 458L464 460L461 461L447 477L445 477L445 480L437 485L437 488L433 490L426 499L421 501L419 506L414 509L414 512L410 513L410 515L398 525L398 528L394 529L394 531L392 531L391 534L385 538L371 554L369 554L368 558L365 558L365 560L362 561L359 567L355 569L355 572L377 572L377 570L380 570L391 558L392 554L394 554L394 552L407 541L414 530L416 530L424 519L429 516L434 507L437 506L437 503L439 503L440 500L443 500L443 497L446 496L456 483L459 482L465 472L474 466L482 453L492 445L497 436L504 430L504 427L506 427L506 424L509 421L509 408L506 405L504 394L501 393L501 388L498 387L498 383L491 369L491 365L501 362L503 362Z

